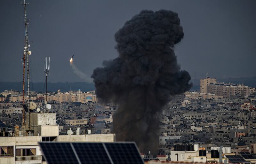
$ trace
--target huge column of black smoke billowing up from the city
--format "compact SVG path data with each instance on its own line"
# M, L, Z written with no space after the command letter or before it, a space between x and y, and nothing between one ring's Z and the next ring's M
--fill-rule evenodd
M143 10L116 32L119 56L103 61L92 78L102 103L118 105L112 129L117 141L135 141L140 152L157 153L163 106L192 87L171 48L183 35L178 14L167 10Z

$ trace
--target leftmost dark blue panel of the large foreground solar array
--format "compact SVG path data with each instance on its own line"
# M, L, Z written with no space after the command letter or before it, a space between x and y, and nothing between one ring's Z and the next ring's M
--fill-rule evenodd
M78 164L75 153L69 143L39 143L48 164Z

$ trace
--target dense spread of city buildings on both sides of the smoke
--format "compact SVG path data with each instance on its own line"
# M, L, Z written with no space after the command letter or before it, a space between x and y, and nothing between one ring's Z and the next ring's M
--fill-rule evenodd
M209 77L201 79L200 92L189 91L172 98L163 111L159 150L154 158L219 162L220 159L213 158L212 153L219 153L221 146L224 147L222 160L226 163L232 163L229 155L256 154L255 89L216 81ZM222 90L218 86L222 86ZM0 161L26 163L35 159L37 163L43 163L42 152L36 144L39 141L115 142L111 127L117 106L98 104L94 91L62 93L58 90L47 93L47 102L45 93L31 92L33 102L40 110L31 110L29 117L26 112L25 125L22 125L21 93L5 90L1 95L4 99L0 103L0 121L6 127L0 127ZM46 104L51 105L48 111ZM205 151L205 157L200 157L202 151ZM145 160L153 158L149 152L142 152L141 157ZM255 161L250 159L250 162Z

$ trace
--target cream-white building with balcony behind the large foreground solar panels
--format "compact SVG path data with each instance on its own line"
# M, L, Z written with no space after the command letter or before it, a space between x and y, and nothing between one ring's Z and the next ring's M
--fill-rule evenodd
M17 137L0 137L0 164L46 164L38 142L115 142L115 134L60 136L55 113L31 113L31 116L34 117L31 120L34 136L26 136L30 133L20 130ZM27 126L22 128L27 129Z

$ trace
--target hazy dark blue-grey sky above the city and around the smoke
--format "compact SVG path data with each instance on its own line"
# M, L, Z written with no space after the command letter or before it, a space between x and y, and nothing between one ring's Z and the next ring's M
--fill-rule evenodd
M24 8L20 0L0 4L0 81L22 81ZM30 75L44 82L44 58L51 57L49 82L81 82L69 65L91 76L103 60L117 57L114 34L143 9L179 14L184 38L175 47L178 63L192 79L255 76L256 1L235 0L27 0Z

